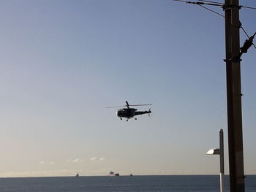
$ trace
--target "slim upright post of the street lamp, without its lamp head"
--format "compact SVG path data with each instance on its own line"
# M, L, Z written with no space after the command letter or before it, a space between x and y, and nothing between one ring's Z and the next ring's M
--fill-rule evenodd
M225 192L223 129L219 130L219 166L220 166L220 192Z

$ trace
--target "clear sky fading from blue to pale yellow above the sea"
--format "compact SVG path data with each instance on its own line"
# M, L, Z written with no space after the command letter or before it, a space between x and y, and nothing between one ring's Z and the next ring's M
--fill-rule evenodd
M206 152L221 128L228 174L224 18L170 0L0 4L0 177L219 174ZM250 36L255 16L240 10ZM256 174L255 47L242 59L244 172ZM153 104L151 118L105 108L125 101Z

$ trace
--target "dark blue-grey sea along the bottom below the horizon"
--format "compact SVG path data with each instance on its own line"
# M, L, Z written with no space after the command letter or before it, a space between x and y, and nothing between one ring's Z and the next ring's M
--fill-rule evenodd
M256 175L247 175L245 181L246 191L256 191ZM0 178L0 191L219 191L219 175ZM225 191L229 191L228 176Z

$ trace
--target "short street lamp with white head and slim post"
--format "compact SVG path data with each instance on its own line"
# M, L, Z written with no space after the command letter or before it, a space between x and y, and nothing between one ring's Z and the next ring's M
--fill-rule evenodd
M219 155L220 166L220 191L224 192L224 147L223 147L223 129L219 130L219 148L208 150L207 155Z

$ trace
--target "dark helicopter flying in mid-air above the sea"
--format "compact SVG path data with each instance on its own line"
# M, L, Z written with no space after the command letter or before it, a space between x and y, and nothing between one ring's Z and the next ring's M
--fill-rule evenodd
M127 108L122 108L116 112L116 115L118 118L122 120L122 118L127 118L127 121L130 118L135 118L136 115L143 115L143 114L148 114L148 116L151 114L151 109L148 111L137 111L135 108L130 108L130 106L146 106L146 105L152 105L152 104L128 104L128 101L125 101L127 104L123 106L115 106L115 107L127 107ZM113 107L106 107L106 108L113 108Z

